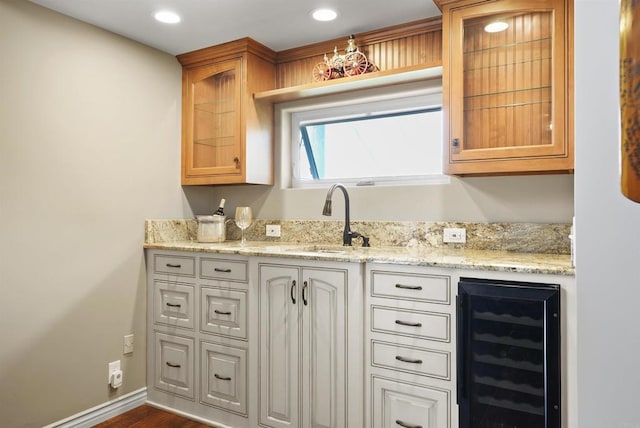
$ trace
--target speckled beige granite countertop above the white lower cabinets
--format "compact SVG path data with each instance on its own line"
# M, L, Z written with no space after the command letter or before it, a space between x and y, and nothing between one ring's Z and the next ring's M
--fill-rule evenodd
M406 247L342 247L340 245L239 241L200 243L197 241L147 242L148 249L195 251L245 256L289 257L306 260L328 260L352 263L394 263L454 269L535 274L574 275L567 254L538 254L477 249Z

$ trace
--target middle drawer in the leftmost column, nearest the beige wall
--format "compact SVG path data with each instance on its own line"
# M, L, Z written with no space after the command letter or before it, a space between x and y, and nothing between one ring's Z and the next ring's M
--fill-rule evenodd
M193 286L162 281L155 281L153 286L153 321L192 329Z

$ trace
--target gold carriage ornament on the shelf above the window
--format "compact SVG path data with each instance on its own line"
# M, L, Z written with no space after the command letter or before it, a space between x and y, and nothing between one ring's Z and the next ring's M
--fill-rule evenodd
M372 71L378 71L378 67L370 63L366 55L360 52L356 46L355 37L349 36L344 55L338 54L337 47L333 48L333 57L331 59L327 57L327 54L324 54L324 61L317 63L313 67L313 80L321 82L323 80L357 76Z

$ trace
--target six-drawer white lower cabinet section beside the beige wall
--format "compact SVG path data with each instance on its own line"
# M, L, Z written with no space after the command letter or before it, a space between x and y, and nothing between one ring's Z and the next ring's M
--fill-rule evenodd
M146 257L148 401L214 426L255 428L248 257L161 250Z

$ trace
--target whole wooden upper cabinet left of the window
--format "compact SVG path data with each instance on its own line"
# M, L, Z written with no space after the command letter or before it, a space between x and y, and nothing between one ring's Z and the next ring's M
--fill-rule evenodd
M182 184L273 184L275 52L244 38L179 55Z

